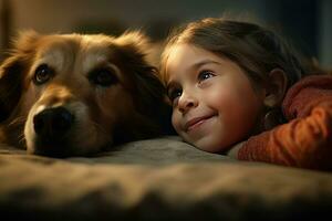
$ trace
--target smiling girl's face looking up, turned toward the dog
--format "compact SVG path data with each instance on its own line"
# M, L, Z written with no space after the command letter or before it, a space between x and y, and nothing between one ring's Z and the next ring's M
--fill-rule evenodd
M176 131L197 148L219 152L256 127L263 92L228 59L190 44L174 46L166 63Z

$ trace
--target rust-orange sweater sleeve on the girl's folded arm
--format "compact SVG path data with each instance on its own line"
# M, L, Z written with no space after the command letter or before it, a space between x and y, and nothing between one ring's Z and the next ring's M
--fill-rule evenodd
M282 104L289 123L250 137L240 160L310 169L332 169L332 76L309 76L293 85Z

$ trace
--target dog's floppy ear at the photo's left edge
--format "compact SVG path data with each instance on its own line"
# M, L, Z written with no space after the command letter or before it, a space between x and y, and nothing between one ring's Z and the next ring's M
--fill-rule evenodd
M7 119L19 103L23 87L23 72L31 57L32 42L37 38L35 32L22 32L14 41L11 54L0 66L0 122Z

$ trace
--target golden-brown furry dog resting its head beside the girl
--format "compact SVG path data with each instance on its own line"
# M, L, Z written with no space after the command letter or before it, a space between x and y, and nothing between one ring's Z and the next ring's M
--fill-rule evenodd
M0 141L68 157L162 135L169 106L146 61L147 43L139 32L22 33L0 69ZM37 126L39 114L55 108L64 117L51 115Z

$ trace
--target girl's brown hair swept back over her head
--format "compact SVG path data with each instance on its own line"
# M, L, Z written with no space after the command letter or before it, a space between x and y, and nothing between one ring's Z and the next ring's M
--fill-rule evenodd
M277 33L256 23L207 18L177 29L168 38L162 55L162 80L167 84L166 63L174 45L193 44L237 63L255 86L263 84L273 69L281 69L288 87L310 71L303 57Z

